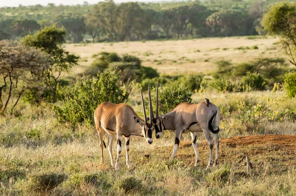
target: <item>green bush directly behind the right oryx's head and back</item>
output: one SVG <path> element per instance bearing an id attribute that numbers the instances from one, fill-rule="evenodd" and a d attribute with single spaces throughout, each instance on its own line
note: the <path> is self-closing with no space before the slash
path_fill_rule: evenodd
<path id="1" fill-rule="evenodd" d="M 152 98 L 153 104 L 155 104 L 156 93 L 155 89 L 154 96 Z M 159 91 L 159 112 L 161 114 L 167 113 L 174 109 L 179 103 L 192 101 L 192 93 L 189 91 L 188 87 L 183 85 L 167 86 Z M 156 108 L 155 105 L 153 108 Z"/>

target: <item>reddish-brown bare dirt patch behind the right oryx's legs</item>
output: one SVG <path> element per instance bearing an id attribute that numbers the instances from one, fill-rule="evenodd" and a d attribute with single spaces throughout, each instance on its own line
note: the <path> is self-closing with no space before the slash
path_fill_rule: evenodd
<path id="1" fill-rule="evenodd" d="M 194 160 L 191 141 L 181 141 L 176 157 Z M 192 148 L 192 150 L 189 150 Z M 209 159 L 207 141 L 197 143 L 202 162 Z M 242 156 L 249 155 L 253 162 L 267 162 L 274 165 L 296 165 L 296 135 L 249 135 L 220 138 L 219 160 L 221 163 L 235 163 Z M 213 152 L 215 160 L 215 149 Z"/>

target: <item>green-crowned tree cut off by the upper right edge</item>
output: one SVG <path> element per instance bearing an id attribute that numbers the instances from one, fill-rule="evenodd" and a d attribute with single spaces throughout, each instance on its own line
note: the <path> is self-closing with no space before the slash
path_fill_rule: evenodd
<path id="1" fill-rule="evenodd" d="M 296 66 L 296 5 L 280 3 L 272 6 L 264 15 L 262 26 L 271 34 L 277 34 L 290 57 L 290 63 Z"/>

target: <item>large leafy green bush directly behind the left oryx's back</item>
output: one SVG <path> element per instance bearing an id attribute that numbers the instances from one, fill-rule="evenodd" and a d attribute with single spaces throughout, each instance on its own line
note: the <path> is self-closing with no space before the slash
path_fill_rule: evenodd
<path id="1" fill-rule="evenodd" d="M 113 103 L 126 102 L 129 92 L 118 84 L 119 75 L 108 70 L 98 73 L 97 77 L 83 76 L 77 80 L 73 88 L 59 89 L 62 106 L 53 106 L 60 123 L 93 122 L 93 114 L 97 106 L 106 101 Z"/>

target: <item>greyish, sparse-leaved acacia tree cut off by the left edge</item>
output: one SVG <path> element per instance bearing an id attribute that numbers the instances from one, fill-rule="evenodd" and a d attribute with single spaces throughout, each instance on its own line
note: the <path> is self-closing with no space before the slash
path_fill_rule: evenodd
<path id="1" fill-rule="evenodd" d="M 22 94 L 38 88 L 50 59 L 40 50 L 7 40 L 0 41 L 0 115 L 3 115 L 12 97 L 17 105 Z"/>

